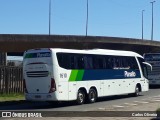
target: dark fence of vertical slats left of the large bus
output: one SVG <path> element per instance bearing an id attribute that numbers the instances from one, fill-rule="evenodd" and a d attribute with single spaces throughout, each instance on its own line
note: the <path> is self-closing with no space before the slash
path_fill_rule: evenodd
<path id="1" fill-rule="evenodd" d="M 22 67 L 0 66 L 0 94 L 23 93 Z"/>

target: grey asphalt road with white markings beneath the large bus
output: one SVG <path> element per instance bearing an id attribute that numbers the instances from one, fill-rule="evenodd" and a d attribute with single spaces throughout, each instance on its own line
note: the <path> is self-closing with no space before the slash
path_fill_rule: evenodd
<path id="1" fill-rule="evenodd" d="M 83 117 L 46 117 L 46 118 L 34 118 L 34 119 L 45 119 L 45 120 L 149 120 L 156 118 L 156 116 L 135 116 L 137 112 L 150 112 L 156 114 L 156 110 L 160 108 L 160 87 L 153 87 L 148 92 L 142 93 L 139 97 L 131 97 L 127 95 L 123 96 L 112 96 L 112 97 L 105 97 L 99 99 L 94 104 L 84 104 L 84 105 L 76 105 L 74 102 L 65 102 L 60 104 L 50 104 L 47 102 L 26 102 L 26 101 L 14 101 L 14 104 L 5 102 L 0 102 L 0 110 L 1 111 L 11 111 L 11 110 L 27 110 L 27 111 L 96 111 L 97 113 L 108 112 L 108 111 L 119 111 L 120 113 L 125 112 L 128 115 L 128 111 L 131 111 L 131 116 L 121 116 L 117 114 L 117 117 L 104 117 L 98 116 L 97 117 L 90 117 L 90 116 L 83 116 Z M 100 111 L 100 112 L 99 112 Z M 74 116 L 74 115 L 73 115 Z M 15 118 L 10 118 L 15 119 Z M 25 118 L 28 119 L 28 118 Z M 32 119 L 32 118 L 30 118 Z"/>

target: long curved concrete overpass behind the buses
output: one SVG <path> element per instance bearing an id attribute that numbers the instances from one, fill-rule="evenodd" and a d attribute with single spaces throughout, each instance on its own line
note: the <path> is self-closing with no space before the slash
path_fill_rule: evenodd
<path id="1" fill-rule="evenodd" d="M 0 52 L 18 55 L 32 48 L 73 48 L 73 49 L 115 49 L 130 50 L 140 54 L 160 52 L 160 42 L 101 36 L 72 36 L 72 35 L 23 35 L 1 34 Z"/>

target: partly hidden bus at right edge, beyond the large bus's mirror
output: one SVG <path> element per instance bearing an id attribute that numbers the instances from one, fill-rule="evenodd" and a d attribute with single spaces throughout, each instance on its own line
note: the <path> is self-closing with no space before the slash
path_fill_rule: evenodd
<path id="1" fill-rule="evenodd" d="M 152 65 L 152 71 L 148 71 L 150 85 L 160 85 L 160 53 L 145 53 L 144 59 Z"/>

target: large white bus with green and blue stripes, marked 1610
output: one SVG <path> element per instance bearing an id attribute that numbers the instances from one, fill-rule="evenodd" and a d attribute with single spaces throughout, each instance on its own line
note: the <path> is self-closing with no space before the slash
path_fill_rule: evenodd
<path id="1" fill-rule="evenodd" d="M 83 104 L 103 96 L 138 96 L 149 89 L 147 66 L 130 51 L 31 49 L 23 61 L 25 98 Z"/>

